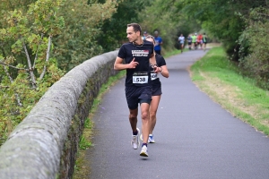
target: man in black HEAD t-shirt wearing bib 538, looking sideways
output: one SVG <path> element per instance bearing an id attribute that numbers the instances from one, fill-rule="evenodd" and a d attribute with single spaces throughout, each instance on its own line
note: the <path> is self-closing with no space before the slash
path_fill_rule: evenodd
<path id="1" fill-rule="evenodd" d="M 126 70 L 126 101 L 129 108 L 129 122 L 133 131 L 131 144 L 139 148 L 139 129 L 137 125 L 138 103 L 142 117 L 143 136 L 150 134 L 149 109 L 152 101 L 152 81 L 150 64 L 154 72 L 160 72 L 153 56 L 154 47 L 141 37 L 141 27 L 137 23 L 127 25 L 126 33 L 129 43 L 123 44 L 114 64 L 115 70 Z M 151 59 L 150 59 L 151 58 Z M 123 64 L 125 62 L 125 64 Z M 143 140 L 140 156 L 148 157 L 147 138 Z"/>

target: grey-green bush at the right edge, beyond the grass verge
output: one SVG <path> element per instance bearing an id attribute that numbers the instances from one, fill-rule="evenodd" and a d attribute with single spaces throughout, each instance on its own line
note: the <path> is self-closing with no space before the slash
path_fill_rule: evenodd
<path id="1" fill-rule="evenodd" d="M 257 84 L 269 90 L 269 10 L 258 7 L 251 11 L 246 30 L 239 38 L 240 66 L 243 72 L 256 79 Z"/>

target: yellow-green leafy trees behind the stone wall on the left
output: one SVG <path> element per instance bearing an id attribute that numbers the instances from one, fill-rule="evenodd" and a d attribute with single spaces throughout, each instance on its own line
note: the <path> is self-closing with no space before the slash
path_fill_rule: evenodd
<path id="1" fill-rule="evenodd" d="M 0 139 L 70 70 L 103 52 L 96 37 L 116 0 L 3 0 L 0 4 Z M 64 21 L 65 19 L 65 21 Z"/>

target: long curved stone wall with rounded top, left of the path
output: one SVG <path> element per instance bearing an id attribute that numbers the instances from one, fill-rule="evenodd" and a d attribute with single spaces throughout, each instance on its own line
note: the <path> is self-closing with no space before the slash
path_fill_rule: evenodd
<path id="1" fill-rule="evenodd" d="M 83 124 L 117 51 L 76 66 L 57 81 L 0 148 L 0 178 L 71 178 Z"/>

